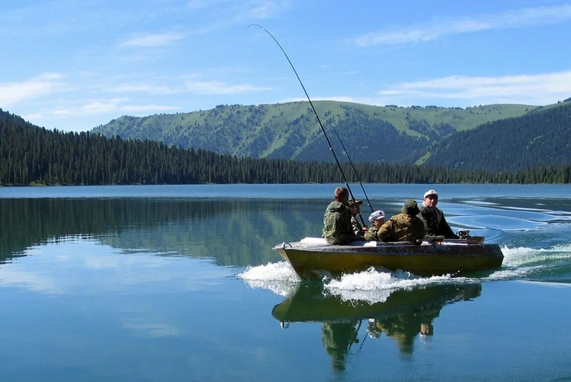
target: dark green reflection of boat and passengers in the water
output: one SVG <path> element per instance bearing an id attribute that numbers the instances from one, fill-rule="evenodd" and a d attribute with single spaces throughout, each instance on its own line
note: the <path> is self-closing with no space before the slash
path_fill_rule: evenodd
<path id="1" fill-rule="evenodd" d="M 370 302 L 347 299 L 325 288 L 317 282 L 299 284 L 272 309 L 272 316 L 284 328 L 293 322 L 321 322 L 325 351 L 332 357 L 332 367 L 341 370 L 351 347 L 360 342 L 361 325 L 367 325 L 365 339 L 378 339 L 385 333 L 401 353 L 410 355 L 416 336 L 433 335 L 433 320 L 445 305 L 475 299 L 481 293 L 481 284 L 433 285 L 384 291 L 388 297 L 383 301 Z"/>

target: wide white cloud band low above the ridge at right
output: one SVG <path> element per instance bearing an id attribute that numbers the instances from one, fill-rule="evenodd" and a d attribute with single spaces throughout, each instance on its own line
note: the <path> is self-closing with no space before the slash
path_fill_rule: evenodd
<path id="1" fill-rule="evenodd" d="M 547 104 L 567 98 L 571 95 L 569 89 L 571 70 L 503 77 L 452 75 L 427 81 L 402 82 L 379 91 L 379 95 L 408 100 L 432 99 L 431 104 L 439 104 L 439 99 L 456 99 L 467 104 L 524 103 L 524 100 Z"/>

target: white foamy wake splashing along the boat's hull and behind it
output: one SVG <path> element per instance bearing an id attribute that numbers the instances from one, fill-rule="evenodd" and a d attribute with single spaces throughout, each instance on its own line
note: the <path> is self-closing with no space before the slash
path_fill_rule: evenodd
<path id="1" fill-rule="evenodd" d="M 369 303 L 385 301 L 396 290 L 409 290 L 425 286 L 446 284 L 472 284 L 496 280 L 534 280 L 571 282 L 557 275 L 570 274 L 571 243 L 550 248 L 501 248 L 504 263 L 499 270 L 475 274 L 471 277 L 454 275 L 420 277 L 406 271 L 388 272 L 369 268 L 367 271 L 332 279 L 324 276 L 324 292 L 342 300 L 360 300 Z M 279 296 L 288 296 L 301 280 L 287 262 L 268 263 L 247 267 L 238 275 L 251 288 L 270 289 Z"/>

